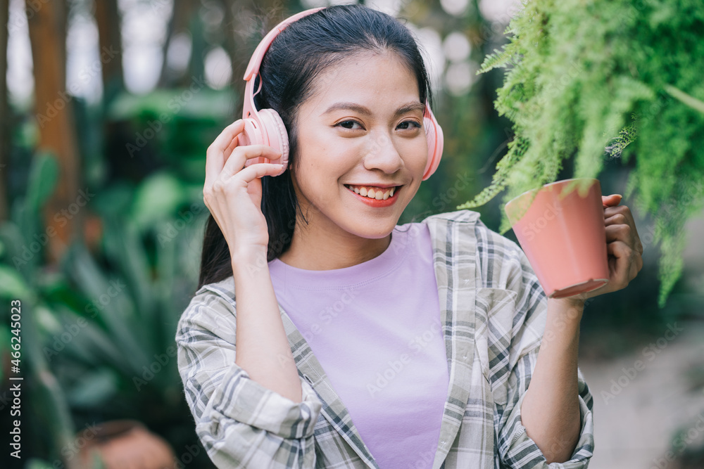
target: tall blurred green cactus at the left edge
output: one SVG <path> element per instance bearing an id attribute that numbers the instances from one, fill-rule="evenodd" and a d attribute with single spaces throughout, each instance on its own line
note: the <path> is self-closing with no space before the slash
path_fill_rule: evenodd
<path id="1" fill-rule="evenodd" d="M 32 406 L 25 407 L 31 409 L 30 412 L 21 414 L 25 425 L 30 421 L 37 428 L 46 429 L 47 438 L 42 441 L 48 444 L 47 453 L 52 458 L 63 461 L 63 467 L 73 469 L 77 468 L 76 461 L 65 458 L 61 452 L 62 448 L 73 442 L 73 420 L 65 392 L 49 368 L 49 361 L 42 354 L 40 316 L 47 314 L 51 307 L 44 292 L 51 290 L 55 277 L 40 268 L 38 256 L 32 255 L 32 248 L 29 248 L 33 247 L 32 243 L 38 245 L 38 241 L 28 235 L 38 233 L 37 214 L 54 190 L 57 176 L 58 165 L 54 156 L 48 153 L 37 155 L 30 172 L 27 193 L 24 198 L 15 200 L 12 206 L 13 221 L 7 221 L 0 226 L 0 252 L 4 260 L 0 263 L 0 297 L 8 300 L 8 304 L 11 300 L 20 300 L 20 321 L 14 322 L 20 323 L 18 329 L 21 345 L 19 350 L 12 350 L 8 348 L 10 340 L 4 340 L 1 356 L 7 357 L 7 361 L 9 357 L 18 360 L 19 374 L 27 378 L 24 381 L 23 396 L 32 402 Z M 30 255 L 23 254 L 23 248 L 27 248 Z M 15 266 L 6 264 L 11 257 L 22 259 L 23 262 L 18 263 L 15 269 Z M 9 308 L 4 308 L 2 312 L 2 315 L 6 316 L 0 323 L 3 337 L 11 335 L 10 312 Z M 4 380 L 5 377 L 0 378 Z M 25 441 L 26 437 L 27 435 Z M 31 444 L 36 442 L 30 442 Z"/>

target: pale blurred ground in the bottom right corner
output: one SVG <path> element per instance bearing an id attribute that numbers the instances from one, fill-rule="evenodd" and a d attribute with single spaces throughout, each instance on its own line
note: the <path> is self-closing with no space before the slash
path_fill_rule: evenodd
<path id="1" fill-rule="evenodd" d="M 580 349 L 594 397 L 590 469 L 704 468 L 704 324 L 670 326 L 617 359 L 594 358 L 589 340 Z"/>

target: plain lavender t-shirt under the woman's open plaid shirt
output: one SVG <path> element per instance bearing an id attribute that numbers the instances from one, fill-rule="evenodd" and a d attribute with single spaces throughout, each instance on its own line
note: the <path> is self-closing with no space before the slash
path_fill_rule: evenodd
<path id="1" fill-rule="evenodd" d="M 344 269 L 269 269 L 379 468 L 431 468 L 449 376 L 427 225 L 396 226 L 381 255 Z"/>

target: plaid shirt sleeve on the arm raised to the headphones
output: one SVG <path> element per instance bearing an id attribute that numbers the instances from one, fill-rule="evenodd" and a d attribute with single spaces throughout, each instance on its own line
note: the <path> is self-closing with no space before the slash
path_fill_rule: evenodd
<path id="1" fill-rule="evenodd" d="M 235 364 L 234 299 L 196 292 L 179 320 L 177 362 L 203 447 L 218 468 L 313 468 L 322 402 L 301 378 L 295 403 Z"/>

